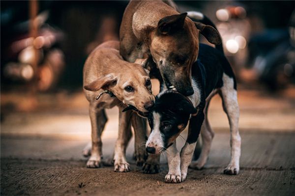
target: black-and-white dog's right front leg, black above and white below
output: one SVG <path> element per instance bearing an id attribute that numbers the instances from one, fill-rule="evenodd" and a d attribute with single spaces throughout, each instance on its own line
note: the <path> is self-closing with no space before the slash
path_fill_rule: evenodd
<path id="1" fill-rule="evenodd" d="M 201 131 L 201 126 L 204 121 L 203 110 L 199 111 L 196 116 L 192 116 L 189 121 L 187 140 L 185 145 L 181 149 L 181 181 L 184 181 L 187 176 L 188 166 L 192 162 L 195 147 L 198 141 L 198 137 Z"/>

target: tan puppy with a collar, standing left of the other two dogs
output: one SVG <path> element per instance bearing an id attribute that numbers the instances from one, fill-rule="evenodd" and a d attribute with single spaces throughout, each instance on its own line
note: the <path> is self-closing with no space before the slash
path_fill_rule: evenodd
<path id="1" fill-rule="evenodd" d="M 146 127 L 142 127 L 144 124 L 142 118 L 131 111 L 122 112 L 122 110 L 131 105 L 136 107 L 139 113 L 147 112 L 153 106 L 154 96 L 151 93 L 148 73 L 143 67 L 146 60 L 137 61 L 142 65 L 126 62 L 119 55 L 118 48 L 119 42 L 117 41 L 101 44 L 91 52 L 84 66 L 84 93 L 89 101 L 92 129 L 91 156 L 87 162 L 87 167 L 97 168 L 101 166 L 101 133 L 107 122 L 105 109 L 118 106 L 119 131 L 114 155 L 115 171 L 128 172 L 129 164 L 126 161 L 125 150 L 132 135 L 130 120 L 135 131 L 138 165 L 142 165 L 147 158 L 145 146 L 139 146 L 146 142 Z M 107 93 L 103 93 L 104 91 Z M 111 97 L 110 95 L 114 96 Z"/>

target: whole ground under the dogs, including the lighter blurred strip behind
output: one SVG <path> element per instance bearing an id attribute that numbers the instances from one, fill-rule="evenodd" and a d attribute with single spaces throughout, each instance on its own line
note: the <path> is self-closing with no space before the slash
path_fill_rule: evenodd
<path id="1" fill-rule="evenodd" d="M 113 167 L 87 169 L 87 159 L 81 151 L 89 142 L 90 123 L 87 104 L 81 104 L 79 100 L 83 96 L 79 95 L 76 105 L 74 101 L 72 105 L 64 102 L 68 108 L 63 111 L 46 109 L 46 112 L 4 116 L 0 193 L 3 196 L 294 196 L 294 99 L 269 98 L 246 91 L 239 95 L 242 155 L 241 170 L 236 176 L 222 173 L 230 160 L 230 135 L 218 99 L 212 101 L 209 111 L 216 131 L 209 160 L 204 170 L 189 170 L 183 183 L 164 183 L 168 172 L 165 156 L 161 157 L 160 173 L 143 174 L 131 158 L 133 141 L 127 148 L 131 172 L 113 172 Z M 69 109 L 73 106 L 75 111 Z M 103 135 L 105 160 L 112 157 L 118 129 L 117 110 L 109 111 L 108 115 L 109 123 Z M 177 144 L 181 147 L 183 140 L 179 139 Z"/>

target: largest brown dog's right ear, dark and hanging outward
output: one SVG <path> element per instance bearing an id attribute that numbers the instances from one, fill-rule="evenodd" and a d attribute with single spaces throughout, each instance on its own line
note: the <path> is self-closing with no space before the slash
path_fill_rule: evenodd
<path id="1" fill-rule="evenodd" d="M 206 39 L 214 45 L 219 45 L 222 43 L 221 36 L 219 32 L 210 25 L 204 25 L 203 23 L 194 22 L 200 33 L 206 37 Z"/>

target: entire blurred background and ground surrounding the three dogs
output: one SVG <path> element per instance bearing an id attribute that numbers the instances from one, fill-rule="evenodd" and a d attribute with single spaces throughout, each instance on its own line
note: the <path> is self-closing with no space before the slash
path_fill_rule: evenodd
<path id="1" fill-rule="evenodd" d="M 134 139 L 126 152 L 131 172 L 86 168 L 82 150 L 91 126 L 83 65 L 100 43 L 118 40 L 127 4 L 0 1 L 0 195 L 295 195 L 295 1 L 176 1 L 180 12 L 200 11 L 216 24 L 236 73 L 238 176 L 223 175 L 230 134 L 219 96 L 209 107 L 216 134 L 206 170 L 190 170 L 175 189 L 163 183 L 167 164 L 156 175 L 136 167 Z M 152 86 L 157 94 L 157 81 Z M 103 160 L 112 159 L 118 108 L 107 116 Z M 178 148 L 186 132 L 182 135 Z"/>

